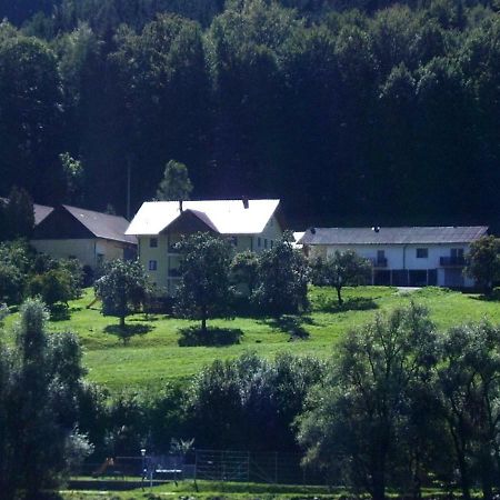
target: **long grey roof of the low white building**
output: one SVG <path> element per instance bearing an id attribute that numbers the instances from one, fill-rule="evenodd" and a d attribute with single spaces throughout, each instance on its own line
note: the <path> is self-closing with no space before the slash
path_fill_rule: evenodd
<path id="1" fill-rule="evenodd" d="M 470 243 L 487 234 L 487 226 L 416 228 L 311 228 L 303 244 L 430 244 Z"/>

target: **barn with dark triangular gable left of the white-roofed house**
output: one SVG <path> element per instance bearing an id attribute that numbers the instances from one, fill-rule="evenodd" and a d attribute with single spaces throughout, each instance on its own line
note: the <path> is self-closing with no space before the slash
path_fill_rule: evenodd
<path id="1" fill-rule="evenodd" d="M 77 258 L 92 269 L 112 259 L 136 256 L 137 239 L 126 236 L 127 219 L 68 204 L 34 206 L 31 244 L 54 258 Z"/>

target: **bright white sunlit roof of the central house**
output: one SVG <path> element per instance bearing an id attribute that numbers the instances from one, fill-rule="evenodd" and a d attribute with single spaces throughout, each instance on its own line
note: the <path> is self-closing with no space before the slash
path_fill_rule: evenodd
<path id="1" fill-rule="evenodd" d="M 280 200 L 203 200 L 183 201 L 190 211 L 220 234 L 259 234 L 266 228 Z M 147 201 L 136 213 L 126 234 L 152 236 L 166 230 L 180 217 L 178 201 Z"/>

